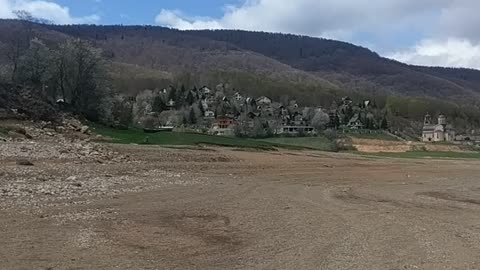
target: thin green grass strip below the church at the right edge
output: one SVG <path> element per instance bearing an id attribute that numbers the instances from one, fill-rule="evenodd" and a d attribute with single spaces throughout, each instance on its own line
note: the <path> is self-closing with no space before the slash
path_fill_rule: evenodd
<path id="1" fill-rule="evenodd" d="M 411 151 L 405 153 L 358 153 L 364 156 L 389 157 L 389 158 L 440 158 L 440 159 L 480 159 L 480 152 L 428 152 Z"/>

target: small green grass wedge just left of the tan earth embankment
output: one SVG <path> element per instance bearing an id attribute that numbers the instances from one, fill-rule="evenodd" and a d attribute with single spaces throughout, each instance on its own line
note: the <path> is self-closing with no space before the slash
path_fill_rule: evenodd
<path id="1" fill-rule="evenodd" d="M 277 137 L 258 139 L 272 144 L 290 145 L 320 151 L 336 151 L 335 143 L 325 137 Z"/>

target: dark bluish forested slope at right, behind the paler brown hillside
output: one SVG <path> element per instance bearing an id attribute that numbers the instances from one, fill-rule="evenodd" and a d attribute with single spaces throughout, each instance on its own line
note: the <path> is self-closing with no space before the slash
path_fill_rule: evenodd
<path id="1" fill-rule="evenodd" d="M 318 72 L 347 88 L 381 88 L 409 96 L 462 99 L 480 92 L 480 71 L 408 66 L 352 44 L 306 36 L 246 31 L 189 31 Z M 459 75 L 462 74 L 462 75 Z M 457 84 L 460 78 L 463 84 Z"/>

